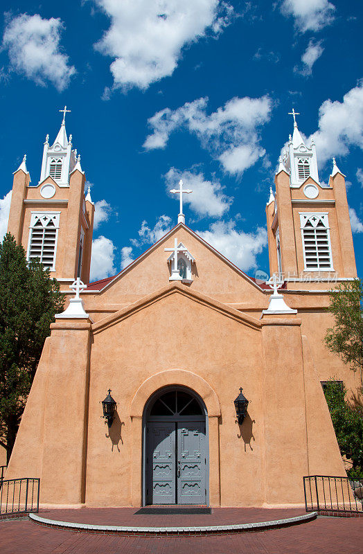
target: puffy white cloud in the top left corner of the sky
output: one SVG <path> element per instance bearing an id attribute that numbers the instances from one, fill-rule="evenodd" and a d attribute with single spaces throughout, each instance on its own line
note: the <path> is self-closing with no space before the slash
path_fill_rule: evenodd
<path id="1" fill-rule="evenodd" d="M 68 87 L 76 69 L 60 48 L 60 19 L 20 14 L 8 21 L 3 48 L 8 50 L 10 69 L 45 86 L 49 80 L 58 91 Z"/>

